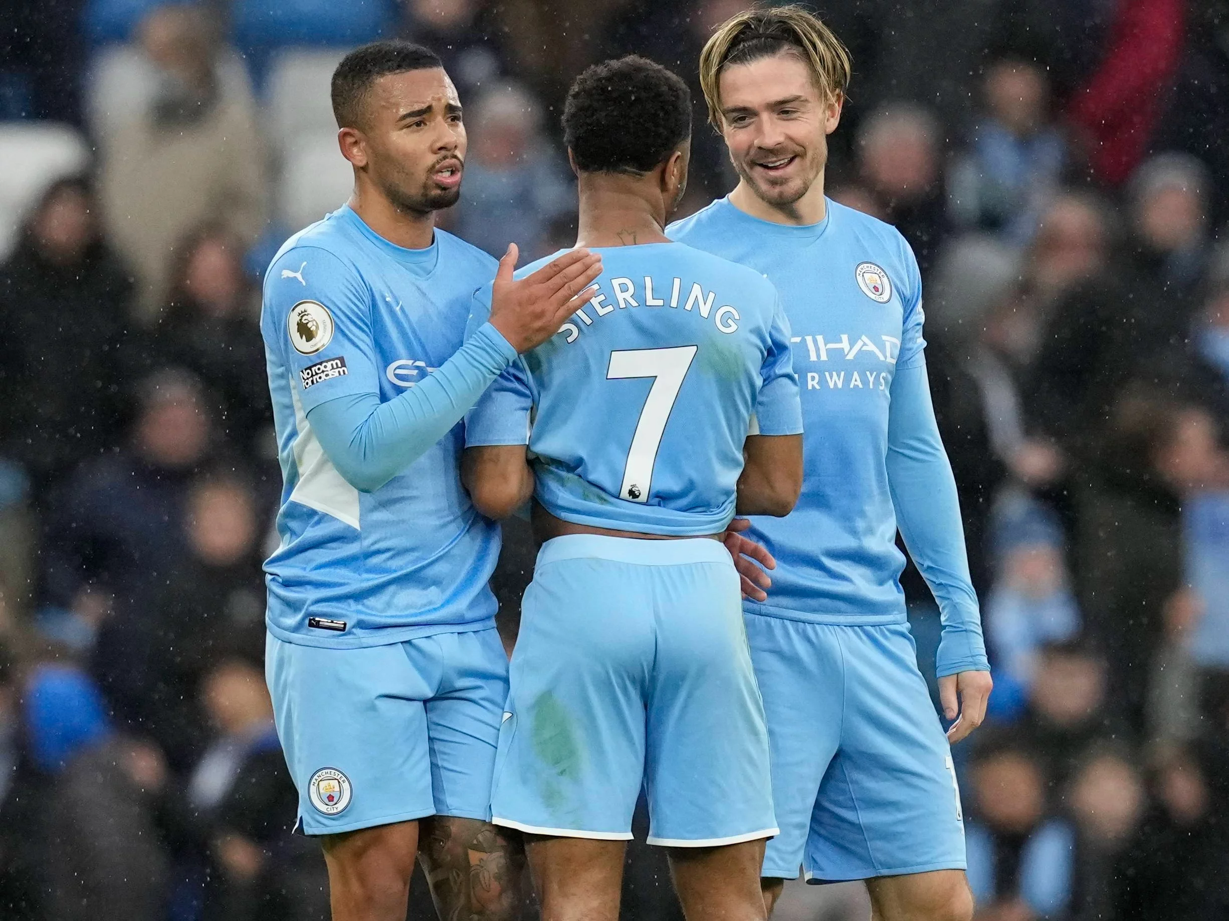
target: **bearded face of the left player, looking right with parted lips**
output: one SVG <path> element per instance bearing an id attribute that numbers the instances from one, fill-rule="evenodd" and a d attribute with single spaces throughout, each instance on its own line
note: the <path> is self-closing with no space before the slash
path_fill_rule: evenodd
<path id="1" fill-rule="evenodd" d="M 343 128 L 342 151 L 398 209 L 426 214 L 461 195 L 466 131 L 461 102 L 440 68 L 375 80 L 361 126 Z"/>

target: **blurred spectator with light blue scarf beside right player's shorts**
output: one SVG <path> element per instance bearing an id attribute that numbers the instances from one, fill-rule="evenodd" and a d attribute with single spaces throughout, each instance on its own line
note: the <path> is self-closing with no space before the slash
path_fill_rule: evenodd
<path id="1" fill-rule="evenodd" d="M 971 772 L 975 814 L 965 822 L 965 840 L 977 921 L 1061 917 L 1072 895 L 1074 830 L 1047 804 L 1039 756 L 989 744 Z"/>

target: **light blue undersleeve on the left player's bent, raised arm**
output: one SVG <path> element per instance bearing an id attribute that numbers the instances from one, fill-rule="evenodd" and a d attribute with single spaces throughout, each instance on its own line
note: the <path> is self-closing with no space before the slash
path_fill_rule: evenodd
<path id="1" fill-rule="evenodd" d="M 371 492 L 422 457 L 465 416 L 515 350 L 484 325 L 425 379 L 395 399 L 356 394 L 307 413 L 321 447 L 355 489 Z"/>

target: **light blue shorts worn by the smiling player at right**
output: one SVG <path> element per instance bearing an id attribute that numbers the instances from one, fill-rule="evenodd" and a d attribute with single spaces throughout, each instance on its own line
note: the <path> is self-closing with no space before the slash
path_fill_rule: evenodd
<path id="1" fill-rule="evenodd" d="M 965 868 L 951 750 L 907 624 L 746 615 L 780 835 L 763 876 L 836 882 Z"/>

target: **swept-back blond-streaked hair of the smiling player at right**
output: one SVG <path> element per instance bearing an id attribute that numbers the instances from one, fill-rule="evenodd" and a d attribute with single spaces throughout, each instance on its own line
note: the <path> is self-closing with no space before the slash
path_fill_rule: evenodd
<path id="1" fill-rule="evenodd" d="M 778 54 L 798 55 L 827 96 L 844 95 L 849 86 L 849 52 L 814 12 L 796 4 L 746 10 L 723 22 L 699 55 L 699 84 L 717 128 L 721 126 L 721 71 Z"/>

